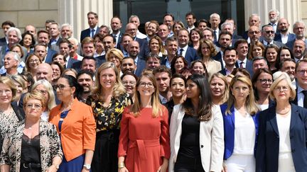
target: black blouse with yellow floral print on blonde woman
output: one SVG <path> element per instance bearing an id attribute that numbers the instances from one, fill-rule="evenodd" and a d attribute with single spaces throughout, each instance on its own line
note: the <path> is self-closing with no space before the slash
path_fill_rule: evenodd
<path id="1" fill-rule="evenodd" d="M 95 100 L 92 96 L 87 98 L 86 103 L 92 107 L 97 126 L 96 132 L 99 132 L 119 129 L 124 108 L 131 105 L 132 99 L 129 93 L 122 93 L 117 99 L 112 97 L 107 108 L 103 106 L 101 101 Z"/>

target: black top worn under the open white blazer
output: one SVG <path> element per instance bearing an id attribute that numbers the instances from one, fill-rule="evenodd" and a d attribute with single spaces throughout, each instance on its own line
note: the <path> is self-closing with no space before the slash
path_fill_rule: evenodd
<path id="1" fill-rule="evenodd" d="M 185 114 L 182 121 L 181 143 L 178 155 L 200 156 L 200 121 L 197 116 Z"/>

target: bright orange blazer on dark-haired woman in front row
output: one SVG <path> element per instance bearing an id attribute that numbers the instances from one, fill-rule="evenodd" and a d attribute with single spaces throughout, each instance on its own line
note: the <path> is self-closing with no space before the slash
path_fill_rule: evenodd
<path id="1" fill-rule="evenodd" d="M 53 123 L 61 137 L 63 153 L 67 161 L 85 154 L 85 149 L 95 149 L 96 122 L 92 108 L 85 103 L 74 99 L 68 115 L 62 123 L 62 130 L 59 131 L 60 107 L 55 106 L 50 110 L 49 122 Z"/>

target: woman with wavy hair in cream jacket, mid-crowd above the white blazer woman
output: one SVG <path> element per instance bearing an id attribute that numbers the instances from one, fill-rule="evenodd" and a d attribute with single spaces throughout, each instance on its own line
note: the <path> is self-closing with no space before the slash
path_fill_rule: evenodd
<path id="1" fill-rule="evenodd" d="M 217 52 L 215 50 L 215 45 L 211 40 L 200 41 L 198 55 L 201 58 L 202 62 L 205 64 L 209 76 L 222 70 L 220 62 L 217 62 L 215 59 L 212 59 L 212 57 L 215 57 L 215 55 L 217 55 Z"/>

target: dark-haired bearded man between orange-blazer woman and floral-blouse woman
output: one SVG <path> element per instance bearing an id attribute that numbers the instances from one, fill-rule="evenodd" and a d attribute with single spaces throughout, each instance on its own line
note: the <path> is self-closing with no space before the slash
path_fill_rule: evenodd
<path id="1" fill-rule="evenodd" d="M 92 91 L 92 86 L 94 86 L 93 81 L 94 74 L 91 71 L 82 70 L 77 74 L 77 83 L 83 87 L 83 92 L 80 95 L 79 101 L 85 103 L 87 97 L 90 96 Z"/>

